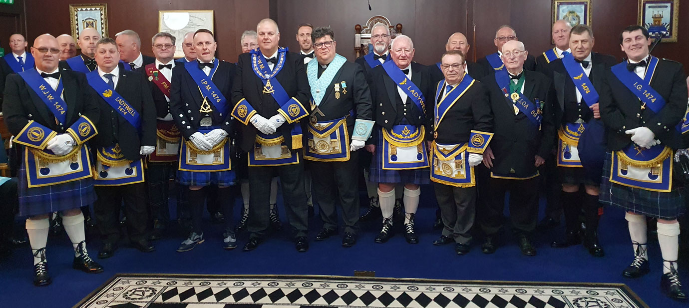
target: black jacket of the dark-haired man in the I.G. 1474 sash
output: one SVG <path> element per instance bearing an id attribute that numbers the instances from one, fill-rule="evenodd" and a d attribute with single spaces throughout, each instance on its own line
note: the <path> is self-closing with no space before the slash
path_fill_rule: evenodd
<path id="1" fill-rule="evenodd" d="M 606 71 L 601 88 L 601 119 L 608 128 L 608 149 L 617 151 L 631 143 L 631 137 L 624 132 L 637 127 L 648 127 L 661 144 L 679 149 L 686 147 L 675 125 L 681 121 L 687 109 L 687 85 L 684 69 L 679 62 L 661 59 L 658 62 L 650 86 L 662 96 L 666 103 L 658 113 L 646 107 L 635 94 L 617 79 L 612 70 Z M 637 117 L 637 114 L 639 116 Z"/>

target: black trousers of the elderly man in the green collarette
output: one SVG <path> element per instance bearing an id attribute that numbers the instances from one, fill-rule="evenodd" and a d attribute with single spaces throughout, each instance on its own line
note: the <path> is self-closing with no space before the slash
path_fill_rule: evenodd
<path id="1" fill-rule="evenodd" d="M 493 236 L 504 228 L 505 193 L 510 192 L 509 209 L 516 236 L 531 236 L 538 220 L 539 176 L 528 180 L 489 179 L 486 206 L 479 209 L 483 232 Z"/>

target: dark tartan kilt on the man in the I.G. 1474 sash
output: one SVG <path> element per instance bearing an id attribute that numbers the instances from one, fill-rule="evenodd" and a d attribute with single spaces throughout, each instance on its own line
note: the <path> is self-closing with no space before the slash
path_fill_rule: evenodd
<path id="1" fill-rule="evenodd" d="M 628 187 L 610 182 L 612 153 L 607 152 L 603 163 L 603 177 L 599 201 L 615 205 L 628 212 L 660 219 L 673 220 L 683 214 L 686 188 L 679 181 L 672 181 L 670 192 L 652 192 L 646 189 Z"/>

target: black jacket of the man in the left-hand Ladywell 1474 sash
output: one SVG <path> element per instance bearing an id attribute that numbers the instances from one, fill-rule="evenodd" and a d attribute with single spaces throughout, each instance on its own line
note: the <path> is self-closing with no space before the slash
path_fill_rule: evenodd
<path id="1" fill-rule="evenodd" d="M 155 106 L 143 74 L 120 69 L 115 86 L 115 92 L 119 93 L 141 116 L 141 132 L 136 132 L 136 129 L 123 116 L 117 114 L 117 111 L 105 102 L 101 94 L 91 87 L 89 89 L 96 97 L 101 112 L 101 121 L 96 125 L 99 134 L 92 139 L 94 147 L 108 147 L 113 143 L 119 143 L 125 158 L 136 161 L 141 158 L 139 155 L 141 145 L 156 145 Z"/>

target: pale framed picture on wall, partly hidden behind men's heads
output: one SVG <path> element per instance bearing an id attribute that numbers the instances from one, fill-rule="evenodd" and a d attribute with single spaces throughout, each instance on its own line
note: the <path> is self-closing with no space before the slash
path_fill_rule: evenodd
<path id="1" fill-rule="evenodd" d="M 184 57 L 182 41 L 187 32 L 213 29 L 213 10 L 158 11 L 158 32 L 168 32 L 175 37 L 175 58 Z"/>

